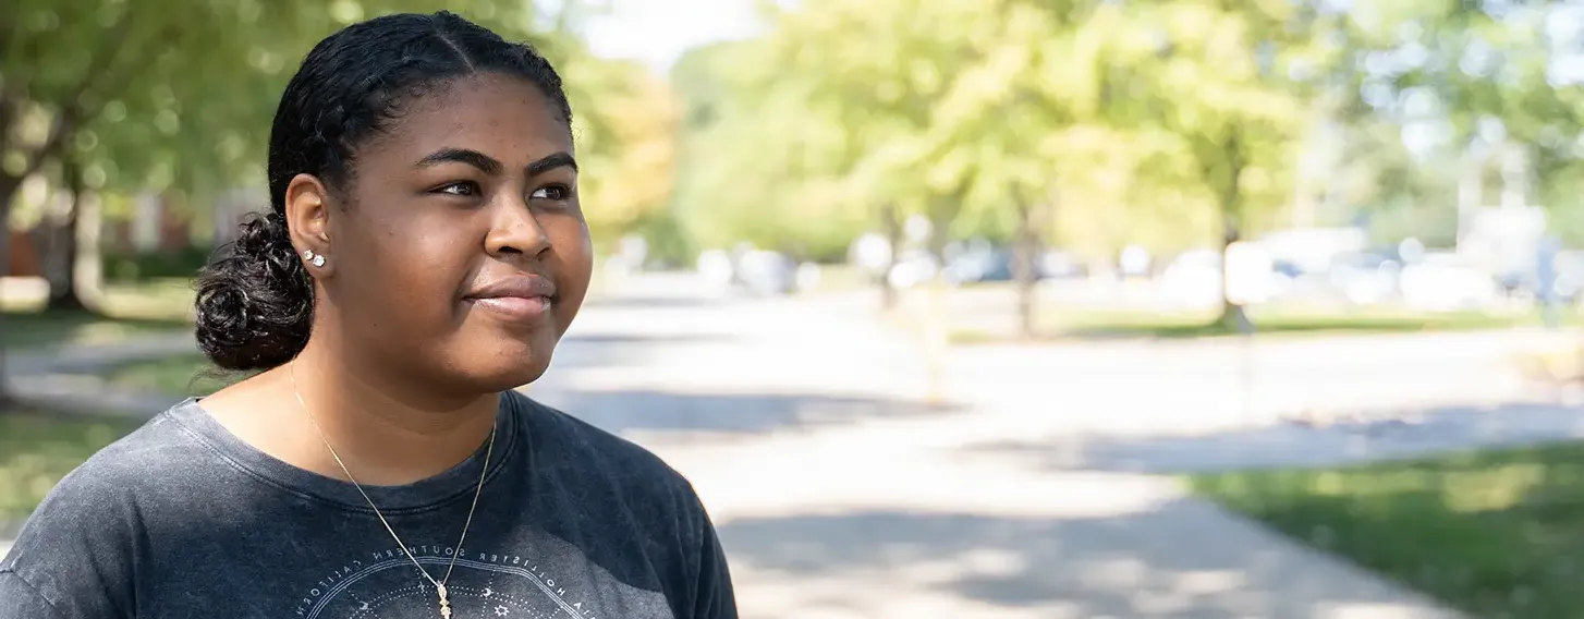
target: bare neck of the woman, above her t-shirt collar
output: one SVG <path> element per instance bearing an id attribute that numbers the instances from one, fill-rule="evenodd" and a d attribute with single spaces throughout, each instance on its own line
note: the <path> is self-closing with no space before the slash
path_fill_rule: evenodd
<path id="1" fill-rule="evenodd" d="M 382 385 L 342 359 L 310 344 L 276 372 L 284 372 L 285 386 L 301 397 L 306 410 L 299 413 L 310 416 L 304 420 L 310 421 L 307 431 L 314 432 L 317 423 L 358 483 L 391 486 L 439 475 L 489 439 L 499 394 L 420 397 Z M 298 404 L 296 397 L 290 402 Z M 341 473 L 334 458 L 325 456 Z"/>

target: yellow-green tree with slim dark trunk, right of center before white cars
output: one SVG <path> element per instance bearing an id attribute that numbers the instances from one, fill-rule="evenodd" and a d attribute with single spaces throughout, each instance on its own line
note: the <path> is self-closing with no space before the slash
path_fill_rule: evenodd
<path id="1" fill-rule="evenodd" d="M 1107 32 L 1102 109 L 1117 127 L 1175 142 L 1185 168 L 1161 171 L 1191 179 L 1215 206 L 1223 253 L 1289 196 L 1305 78 L 1334 54 L 1315 36 L 1327 19 L 1340 16 L 1288 0 L 1156 0 L 1109 3 L 1090 25 Z M 1224 298 L 1218 323 L 1243 320 Z"/>

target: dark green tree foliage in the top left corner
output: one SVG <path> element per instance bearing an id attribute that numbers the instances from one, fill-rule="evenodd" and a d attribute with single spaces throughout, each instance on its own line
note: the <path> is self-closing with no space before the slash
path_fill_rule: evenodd
<path id="1" fill-rule="evenodd" d="M 257 3 L 208 2 L 133 6 L 98 0 L 21 0 L 0 9 L 0 223 L 5 223 L 0 225 L 0 274 L 10 272 L 8 222 L 25 179 L 62 163 L 71 149 L 84 158 L 109 152 L 117 144 L 111 136 L 133 127 L 152 127 L 165 138 L 177 135 L 177 92 L 190 92 L 200 82 L 212 85 L 206 78 L 223 76 L 227 70 L 246 73 L 253 44 L 293 43 L 290 36 L 277 36 L 291 30 L 272 25 L 280 25 L 276 17 L 291 14 L 296 5 L 312 3 L 288 2 L 268 14 Z M 192 52 L 200 49 L 203 52 Z M 234 109 L 215 108 L 225 114 L 252 109 L 247 101 L 238 103 Z M 128 169 L 146 169 L 149 163 L 131 154 L 163 152 L 162 141 L 146 142 L 143 150 L 130 149 L 130 142 L 120 141 L 128 146 L 124 149 L 128 155 L 119 160 Z M 190 157 L 187 161 L 200 168 L 215 158 Z M 76 157 L 68 163 L 74 179 L 81 171 L 84 185 L 97 185 L 108 176 L 103 165 Z M 10 401 L 3 369 L 0 356 L 0 405 Z"/>

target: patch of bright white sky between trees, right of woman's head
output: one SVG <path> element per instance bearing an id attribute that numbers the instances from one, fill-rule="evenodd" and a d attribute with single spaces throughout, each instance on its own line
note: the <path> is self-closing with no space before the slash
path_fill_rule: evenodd
<path id="1" fill-rule="evenodd" d="M 754 0 L 611 0 L 611 6 L 608 16 L 589 19 L 589 46 L 600 55 L 640 60 L 661 74 L 689 47 L 759 30 Z"/>

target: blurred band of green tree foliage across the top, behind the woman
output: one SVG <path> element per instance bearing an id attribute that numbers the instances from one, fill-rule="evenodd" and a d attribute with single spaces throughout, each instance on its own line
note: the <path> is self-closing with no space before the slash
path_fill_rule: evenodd
<path id="1" fill-rule="evenodd" d="M 1584 242 L 1576 0 L 767 2 L 762 35 L 697 49 L 668 81 L 591 54 L 567 17 L 584 5 L 10 2 L 0 215 L 35 174 L 200 206 L 257 184 L 314 41 L 448 8 L 567 73 L 602 241 L 838 260 L 909 215 L 933 223 L 933 252 L 980 236 L 1110 258 L 1353 222 L 1449 241 L 1457 180 L 1494 195 L 1517 152 L 1530 201 Z"/>

